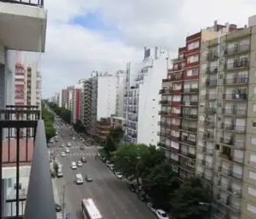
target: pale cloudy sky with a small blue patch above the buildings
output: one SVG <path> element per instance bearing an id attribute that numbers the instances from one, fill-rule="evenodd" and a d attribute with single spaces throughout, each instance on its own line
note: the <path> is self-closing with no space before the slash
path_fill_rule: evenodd
<path id="1" fill-rule="evenodd" d="M 43 96 L 87 78 L 116 72 L 143 58 L 143 47 L 176 52 L 185 37 L 218 23 L 244 26 L 252 0 L 45 0 L 46 53 L 41 56 Z"/>

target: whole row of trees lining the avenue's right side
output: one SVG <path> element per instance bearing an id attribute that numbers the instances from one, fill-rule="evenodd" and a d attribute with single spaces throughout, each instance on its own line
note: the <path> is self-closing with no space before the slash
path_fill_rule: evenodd
<path id="1" fill-rule="evenodd" d="M 211 196 L 200 178 L 181 183 L 162 150 L 151 145 L 121 144 L 121 138 L 120 129 L 111 129 L 104 153 L 124 177 L 143 188 L 154 207 L 170 212 L 176 219 L 209 218 Z"/>

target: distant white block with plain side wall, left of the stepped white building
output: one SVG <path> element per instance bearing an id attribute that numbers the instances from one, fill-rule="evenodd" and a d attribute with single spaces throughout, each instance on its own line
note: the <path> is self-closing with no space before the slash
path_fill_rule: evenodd
<path id="1" fill-rule="evenodd" d="M 95 135 L 97 121 L 116 114 L 116 75 L 92 72 L 91 75 L 91 134 Z"/>

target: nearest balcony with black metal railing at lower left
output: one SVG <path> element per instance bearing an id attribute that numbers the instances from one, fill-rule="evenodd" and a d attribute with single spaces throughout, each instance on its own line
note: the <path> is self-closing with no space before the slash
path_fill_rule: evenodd
<path id="1" fill-rule="evenodd" d="M 18 110 L 21 107 L 24 110 Z M 37 109 L 36 106 L 19 106 L 19 108 L 7 106 L 7 110 L 1 110 L 1 176 L 3 177 L 4 166 L 15 166 L 15 183 L 20 185 L 23 165 L 30 168 L 28 190 L 23 197 L 20 196 L 19 186 L 16 186 L 15 199 L 6 199 L 4 192 L 7 192 L 7 188 L 4 187 L 3 182 L 7 179 L 1 178 L 1 218 L 56 219 L 45 125 L 43 120 L 39 120 L 39 110 L 34 110 L 32 107 Z M 27 141 L 30 143 L 24 144 Z M 7 211 L 6 206 L 10 204 L 12 207 Z"/>

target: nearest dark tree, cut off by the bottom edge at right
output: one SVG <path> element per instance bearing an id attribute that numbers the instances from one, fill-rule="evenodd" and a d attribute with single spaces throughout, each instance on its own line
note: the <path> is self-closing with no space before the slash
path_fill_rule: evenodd
<path id="1" fill-rule="evenodd" d="M 189 179 L 173 193 L 171 215 L 177 219 L 209 218 L 211 211 L 208 205 L 200 204 L 200 202 L 210 203 L 210 197 L 199 178 Z"/>

